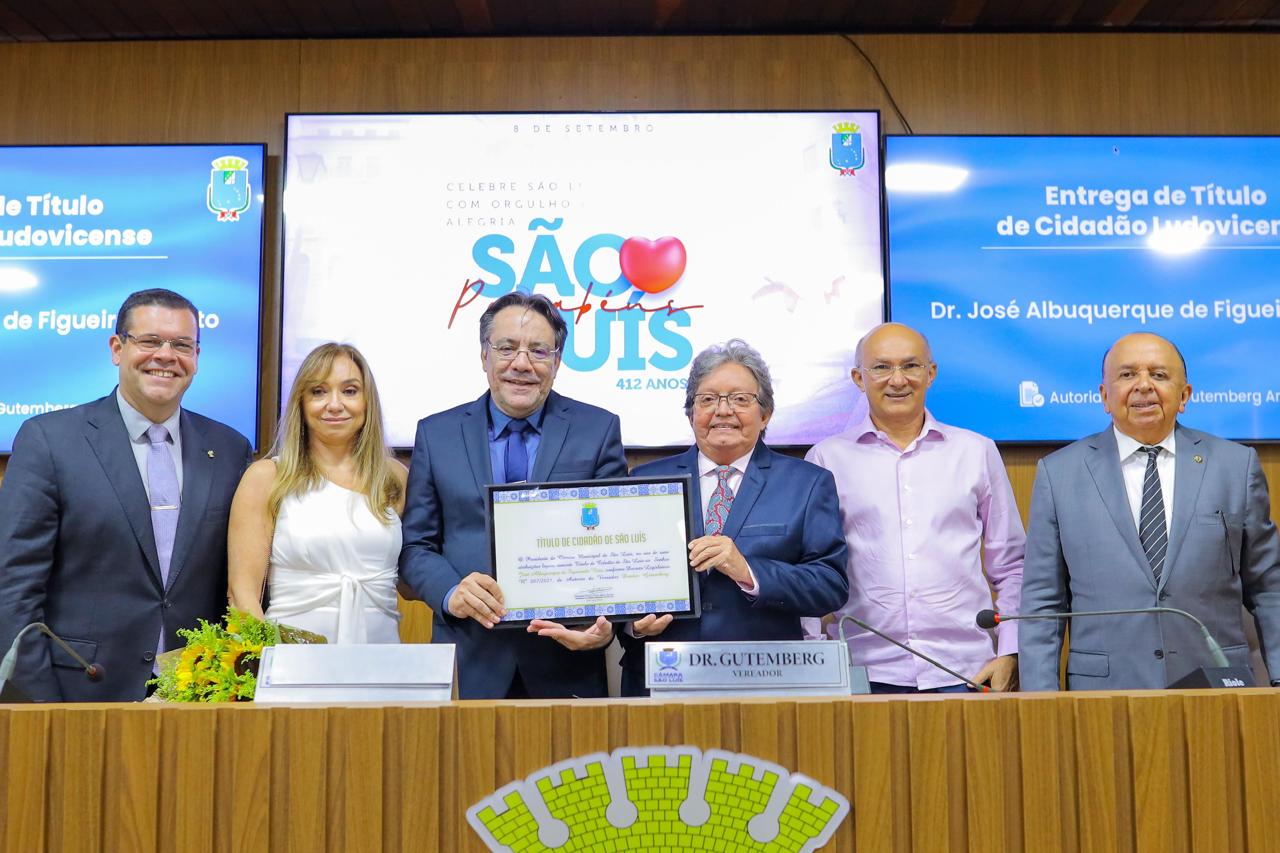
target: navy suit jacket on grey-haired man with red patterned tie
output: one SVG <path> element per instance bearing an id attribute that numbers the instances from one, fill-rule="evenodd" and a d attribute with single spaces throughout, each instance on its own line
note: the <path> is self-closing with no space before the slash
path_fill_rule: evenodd
<path id="1" fill-rule="evenodd" d="M 698 447 L 640 465 L 634 476 L 687 474 L 692 478 L 694 530 L 703 535 Z M 701 619 L 677 619 L 650 642 L 804 639 L 801 616 L 826 616 L 849 599 L 847 546 L 831 471 L 755 446 L 723 535 L 733 539 L 760 584 L 745 594 L 719 571 L 699 574 Z M 618 637 L 622 693 L 645 695 L 644 642 Z"/>

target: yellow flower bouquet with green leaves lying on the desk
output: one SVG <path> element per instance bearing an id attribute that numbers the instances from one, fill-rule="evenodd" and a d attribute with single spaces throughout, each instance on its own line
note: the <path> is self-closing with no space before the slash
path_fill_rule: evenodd
<path id="1" fill-rule="evenodd" d="M 160 654 L 160 675 L 150 684 L 160 702 L 250 702 L 257 689 L 262 649 L 280 643 L 324 643 L 320 634 L 278 625 L 233 607 L 224 625 L 200 620 L 178 629 L 183 648 Z"/>

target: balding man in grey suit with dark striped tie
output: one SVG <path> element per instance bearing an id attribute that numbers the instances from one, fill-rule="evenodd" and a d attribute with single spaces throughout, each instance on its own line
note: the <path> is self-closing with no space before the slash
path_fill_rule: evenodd
<path id="1" fill-rule="evenodd" d="M 1027 530 L 1023 612 L 1174 607 L 1194 613 L 1233 666 L 1249 666 L 1242 602 L 1280 678 L 1280 538 L 1258 455 L 1179 425 L 1190 398 L 1178 348 L 1116 341 L 1102 365 L 1112 426 L 1039 462 Z M 1024 690 L 1059 689 L 1064 620 L 1019 630 Z M 1212 661 L 1174 613 L 1070 621 L 1068 689 L 1164 688 Z"/>

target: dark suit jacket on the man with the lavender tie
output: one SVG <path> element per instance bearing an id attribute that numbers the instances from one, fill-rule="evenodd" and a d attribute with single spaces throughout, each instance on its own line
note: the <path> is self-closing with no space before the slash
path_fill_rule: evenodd
<path id="1" fill-rule="evenodd" d="M 142 699 L 156 638 L 227 608 L 227 515 L 251 459 L 244 437 L 183 410 L 182 511 L 160 584 L 146 488 L 115 394 L 32 418 L 0 484 L 0 651 L 44 621 L 90 662 L 88 681 L 44 635 L 22 644 L 14 680 L 33 699 Z"/>

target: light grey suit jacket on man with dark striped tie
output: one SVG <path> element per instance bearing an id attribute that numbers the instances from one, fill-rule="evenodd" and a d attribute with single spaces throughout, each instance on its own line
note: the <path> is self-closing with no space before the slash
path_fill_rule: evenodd
<path id="1" fill-rule="evenodd" d="M 1280 538 L 1258 455 L 1178 426 L 1169 548 L 1157 584 L 1138 540 L 1111 428 L 1046 456 L 1036 471 L 1023 612 L 1176 607 L 1199 617 L 1235 666 L 1249 666 L 1240 603 L 1280 672 Z M 1024 690 L 1056 690 L 1066 620 L 1020 622 Z M 1212 666 L 1199 629 L 1176 615 L 1071 620 L 1068 689 L 1164 688 Z"/>

